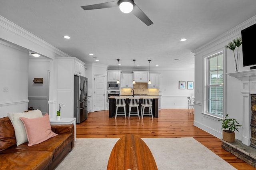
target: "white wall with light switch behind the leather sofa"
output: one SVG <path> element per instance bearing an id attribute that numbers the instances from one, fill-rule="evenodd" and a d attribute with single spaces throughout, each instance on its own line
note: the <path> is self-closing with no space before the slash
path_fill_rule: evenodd
<path id="1" fill-rule="evenodd" d="M 0 117 L 6 117 L 28 110 L 28 51 L 0 40 L 0 54 Z"/>

